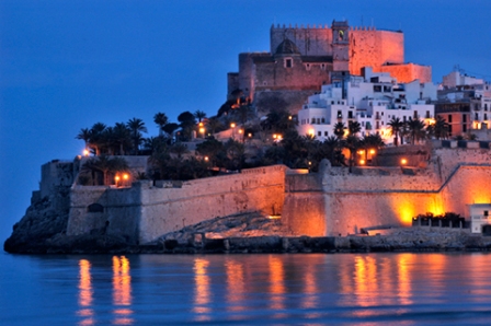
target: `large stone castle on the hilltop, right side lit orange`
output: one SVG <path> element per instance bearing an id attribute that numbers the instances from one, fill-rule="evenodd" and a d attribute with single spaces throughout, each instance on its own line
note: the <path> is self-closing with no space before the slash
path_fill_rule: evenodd
<path id="1" fill-rule="evenodd" d="M 270 53 L 239 55 L 239 72 L 227 74 L 228 97 L 238 90 L 258 112 L 285 107 L 296 114 L 323 84 L 364 67 L 388 72 L 399 82 L 430 82 L 429 66 L 404 63 L 404 35 L 375 27 L 353 27 L 347 21 L 328 26 L 272 26 Z"/>

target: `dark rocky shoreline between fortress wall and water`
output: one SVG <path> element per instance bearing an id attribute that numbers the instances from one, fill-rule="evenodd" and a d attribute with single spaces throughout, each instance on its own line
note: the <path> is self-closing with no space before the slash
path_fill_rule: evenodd
<path id="1" fill-rule="evenodd" d="M 39 207 L 38 207 L 39 208 Z M 367 252 L 468 252 L 490 251 L 491 237 L 468 229 L 396 228 L 384 235 L 309 237 L 292 234 L 279 220 L 258 213 L 217 218 L 153 243 L 130 244 L 123 236 L 91 234 L 68 236 L 67 219 L 53 211 L 34 213 L 14 226 L 4 251 L 15 254 L 255 254 L 255 253 L 367 253 Z M 37 210 L 38 212 L 39 210 Z M 41 210 L 43 211 L 43 210 Z"/>

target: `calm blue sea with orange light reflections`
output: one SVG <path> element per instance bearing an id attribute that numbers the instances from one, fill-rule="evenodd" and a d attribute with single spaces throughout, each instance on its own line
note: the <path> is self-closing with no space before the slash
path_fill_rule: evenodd
<path id="1" fill-rule="evenodd" d="M 0 325 L 490 325 L 491 254 L 0 254 Z"/>

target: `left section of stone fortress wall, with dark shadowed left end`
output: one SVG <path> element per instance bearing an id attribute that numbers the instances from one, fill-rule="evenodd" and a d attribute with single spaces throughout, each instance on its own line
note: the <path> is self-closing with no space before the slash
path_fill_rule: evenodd
<path id="1" fill-rule="evenodd" d="M 106 229 L 129 241 L 148 243 L 205 220 L 261 211 L 279 214 L 285 166 L 244 170 L 240 174 L 130 188 L 73 186 L 68 235 Z"/>

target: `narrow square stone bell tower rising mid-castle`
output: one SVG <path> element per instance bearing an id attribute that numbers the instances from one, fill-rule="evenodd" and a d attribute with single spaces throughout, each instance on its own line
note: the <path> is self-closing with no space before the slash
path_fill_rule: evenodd
<path id="1" fill-rule="evenodd" d="M 350 28 L 347 21 L 333 21 L 331 31 L 333 71 L 350 71 Z"/>

